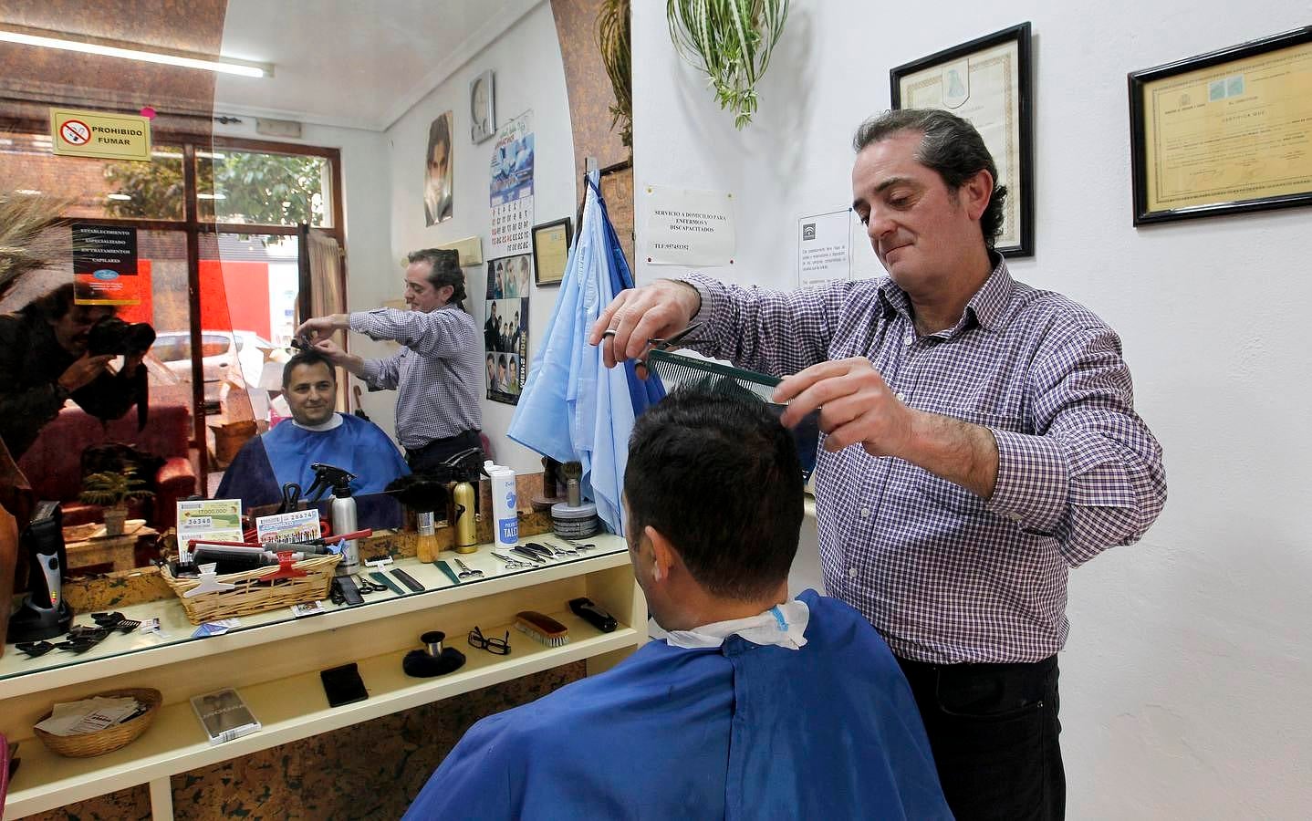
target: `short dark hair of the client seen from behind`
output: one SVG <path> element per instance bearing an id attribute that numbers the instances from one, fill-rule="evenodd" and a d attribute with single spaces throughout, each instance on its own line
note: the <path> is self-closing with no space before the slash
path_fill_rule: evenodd
<path id="1" fill-rule="evenodd" d="M 802 529 L 792 435 L 756 397 L 680 388 L 634 424 L 630 539 L 648 525 L 720 598 L 754 601 L 789 577 Z"/>

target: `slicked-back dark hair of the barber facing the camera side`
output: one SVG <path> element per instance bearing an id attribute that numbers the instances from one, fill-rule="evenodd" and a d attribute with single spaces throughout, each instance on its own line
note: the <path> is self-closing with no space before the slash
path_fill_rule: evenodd
<path id="1" fill-rule="evenodd" d="M 939 109 L 900 109 L 884 111 L 861 123 L 851 147 L 861 153 L 866 146 L 886 140 L 905 131 L 921 134 L 916 161 L 934 169 L 953 191 L 960 190 L 967 180 L 987 170 L 993 177 L 993 195 L 980 215 L 980 232 L 989 248 L 1002 233 L 1002 203 L 1006 186 L 998 185 L 997 164 L 988 152 L 984 138 L 970 122 Z"/>

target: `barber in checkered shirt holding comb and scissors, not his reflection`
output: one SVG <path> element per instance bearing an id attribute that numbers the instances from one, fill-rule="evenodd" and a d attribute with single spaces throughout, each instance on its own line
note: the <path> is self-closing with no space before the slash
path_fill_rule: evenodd
<path id="1" fill-rule="evenodd" d="M 887 278 L 659 281 L 617 296 L 590 341 L 609 366 L 703 320 L 703 353 L 791 374 L 785 424 L 821 408 L 827 434 L 825 586 L 899 657 L 953 812 L 1060 818 L 1067 573 L 1157 518 L 1161 447 L 1117 333 L 993 250 L 1006 190 L 968 122 L 891 111 L 853 142 L 853 209 Z"/>

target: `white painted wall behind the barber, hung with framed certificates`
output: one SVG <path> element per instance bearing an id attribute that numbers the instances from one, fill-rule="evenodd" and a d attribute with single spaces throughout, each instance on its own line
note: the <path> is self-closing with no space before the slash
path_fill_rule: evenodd
<path id="1" fill-rule="evenodd" d="M 1126 73 L 1305 25 L 1307 4 L 799 1 L 743 132 L 673 54 L 663 7 L 634 4 L 638 186 L 735 191 L 737 264 L 710 273 L 778 287 L 796 218 L 850 202 L 851 132 L 888 108 L 888 68 L 1033 21 L 1038 256 L 1012 271 L 1120 332 L 1170 484 L 1140 544 L 1071 577 L 1069 814 L 1305 817 L 1312 210 L 1135 230 Z"/>

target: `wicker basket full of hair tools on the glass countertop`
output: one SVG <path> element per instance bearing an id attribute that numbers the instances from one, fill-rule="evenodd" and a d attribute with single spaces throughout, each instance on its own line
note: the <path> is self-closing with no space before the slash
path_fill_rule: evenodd
<path id="1" fill-rule="evenodd" d="M 192 598 L 184 593 L 199 585 L 199 580 L 174 578 L 167 565 L 160 571 L 160 574 L 182 602 L 182 610 L 186 611 L 186 618 L 190 619 L 192 624 L 201 624 L 328 598 L 328 588 L 332 585 L 333 571 L 338 561 L 341 561 L 338 555 L 302 559 L 291 567 L 304 571 L 304 576 L 273 581 L 261 580 L 277 572 L 278 565 L 276 564 L 241 573 L 227 573 L 219 576 L 219 581 L 231 582 L 236 585 L 235 588 L 202 593 Z"/>

